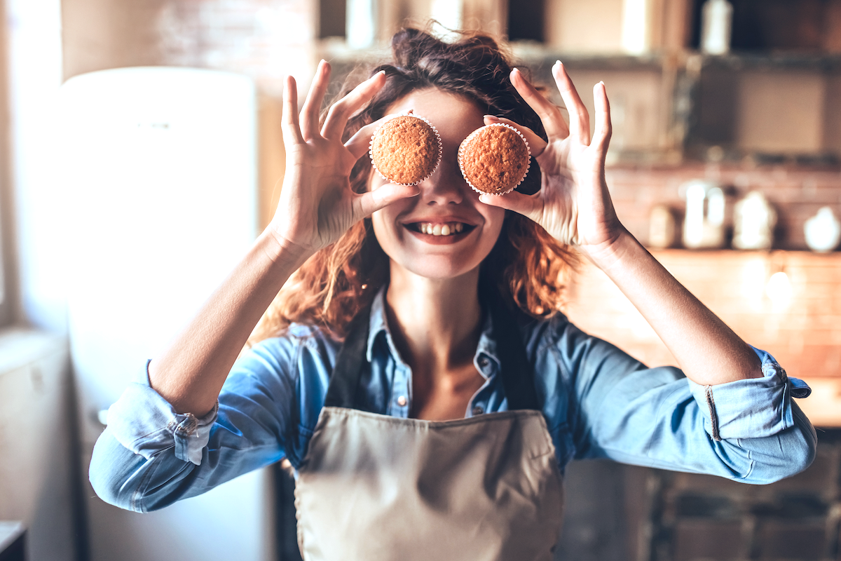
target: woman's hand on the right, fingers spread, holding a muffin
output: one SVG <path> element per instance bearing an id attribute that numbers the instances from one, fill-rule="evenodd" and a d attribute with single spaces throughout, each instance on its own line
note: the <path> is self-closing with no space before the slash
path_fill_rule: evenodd
<path id="1" fill-rule="evenodd" d="M 514 191 L 501 197 L 484 194 L 480 200 L 524 214 L 556 240 L 595 257 L 610 251 L 624 231 L 605 181 L 605 156 L 611 139 L 605 84 L 600 82 L 593 88 L 596 122 L 590 139 L 590 115 L 560 61 L 552 67 L 552 74 L 569 109 L 569 125 L 560 109 L 538 93 L 519 70 L 511 71 L 511 83 L 540 116 L 548 141 L 508 119 L 485 117 L 487 124 L 511 124 L 526 136 L 542 172 L 540 191 L 533 195 Z"/>

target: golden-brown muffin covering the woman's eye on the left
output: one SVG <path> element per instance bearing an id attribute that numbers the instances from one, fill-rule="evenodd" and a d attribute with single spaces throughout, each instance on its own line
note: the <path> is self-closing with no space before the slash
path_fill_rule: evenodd
<path id="1" fill-rule="evenodd" d="M 429 121 L 414 114 L 387 120 L 371 137 L 374 169 L 392 183 L 417 185 L 441 161 L 441 136 Z"/>

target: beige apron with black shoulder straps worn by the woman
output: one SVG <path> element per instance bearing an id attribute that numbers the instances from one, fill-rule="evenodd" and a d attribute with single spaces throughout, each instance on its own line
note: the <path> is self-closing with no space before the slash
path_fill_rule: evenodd
<path id="1" fill-rule="evenodd" d="M 553 558 L 563 485 L 521 338 L 510 316 L 499 317 L 505 311 L 492 304 L 511 410 L 458 421 L 357 409 L 369 368 L 368 314 L 360 315 L 298 468 L 304 561 Z"/>

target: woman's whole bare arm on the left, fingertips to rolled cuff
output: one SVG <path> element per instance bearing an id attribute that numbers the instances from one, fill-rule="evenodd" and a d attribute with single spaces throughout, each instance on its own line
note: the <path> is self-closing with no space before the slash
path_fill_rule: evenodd
<path id="1" fill-rule="evenodd" d="M 321 61 L 299 116 L 293 77 L 283 92 L 286 174 L 278 209 L 254 246 L 161 357 L 149 365 L 151 387 L 179 413 L 212 410 L 231 366 L 283 283 L 315 251 L 358 220 L 417 188 L 388 183 L 353 193 L 349 176 L 368 150 L 375 124 L 341 142 L 347 119 L 385 83 L 382 72 L 333 105 L 323 126 L 321 104 L 330 65 Z M 162 272 L 163 273 L 163 272 Z"/>

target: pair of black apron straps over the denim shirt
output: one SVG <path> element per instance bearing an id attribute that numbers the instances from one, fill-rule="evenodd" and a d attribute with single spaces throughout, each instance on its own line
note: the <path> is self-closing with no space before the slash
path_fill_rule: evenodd
<path id="1" fill-rule="evenodd" d="M 534 387 L 534 369 L 526 356 L 526 347 L 514 314 L 505 308 L 504 300 L 494 288 L 480 283 L 479 299 L 488 310 L 493 325 L 497 357 L 500 359 L 502 386 L 509 410 L 539 410 Z M 360 310 L 348 327 L 345 342 L 336 356 L 336 366 L 327 386 L 325 407 L 362 409 L 359 391 L 362 373 L 370 368 L 366 351 L 370 328 L 371 306 Z M 376 412 L 376 411 L 374 411 Z"/>

